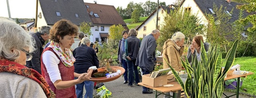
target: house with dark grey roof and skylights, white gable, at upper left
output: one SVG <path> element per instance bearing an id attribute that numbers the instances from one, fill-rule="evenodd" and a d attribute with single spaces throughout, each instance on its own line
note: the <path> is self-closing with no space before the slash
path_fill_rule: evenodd
<path id="1" fill-rule="evenodd" d="M 83 0 L 37 0 L 36 4 L 35 31 L 60 19 L 68 19 L 78 26 L 84 21 L 92 22 Z"/>

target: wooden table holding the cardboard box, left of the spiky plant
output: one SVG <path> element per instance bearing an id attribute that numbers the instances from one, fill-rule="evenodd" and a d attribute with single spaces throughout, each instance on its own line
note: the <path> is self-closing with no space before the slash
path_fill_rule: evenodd
<path id="1" fill-rule="evenodd" d="M 148 85 L 143 85 L 142 83 L 138 83 L 138 85 L 145 86 L 147 88 L 156 90 L 156 98 L 160 94 L 170 96 L 169 92 L 173 92 L 173 96 L 171 96 L 172 98 L 180 98 L 180 93 L 181 93 L 181 90 L 182 90 L 180 84 L 178 82 L 170 82 L 170 83 L 167 83 L 167 84 L 174 85 L 174 86 L 170 86 L 170 87 L 164 87 L 164 86 L 151 87 L 151 86 L 148 86 Z M 157 92 L 160 92 L 160 94 L 157 94 Z M 168 94 L 165 94 L 165 93 L 168 93 Z"/>

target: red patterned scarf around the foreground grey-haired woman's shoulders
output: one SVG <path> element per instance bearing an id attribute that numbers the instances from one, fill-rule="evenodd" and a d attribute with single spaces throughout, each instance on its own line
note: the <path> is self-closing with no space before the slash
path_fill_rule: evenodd
<path id="1" fill-rule="evenodd" d="M 34 69 L 30 69 L 24 65 L 20 65 L 14 61 L 9 61 L 4 58 L 0 58 L 0 72 L 10 72 L 18 75 L 28 77 L 36 81 L 44 90 L 47 98 L 55 98 L 54 92 L 50 89 L 45 79 Z"/>

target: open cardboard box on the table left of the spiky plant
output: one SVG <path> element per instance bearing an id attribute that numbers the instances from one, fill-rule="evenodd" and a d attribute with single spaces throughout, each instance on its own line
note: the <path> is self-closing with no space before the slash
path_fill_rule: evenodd
<path id="1" fill-rule="evenodd" d="M 160 77 L 151 78 L 150 74 L 142 75 L 142 84 L 148 85 L 151 87 L 167 85 L 167 79 L 166 79 L 167 76 L 168 75 L 163 75 Z"/>

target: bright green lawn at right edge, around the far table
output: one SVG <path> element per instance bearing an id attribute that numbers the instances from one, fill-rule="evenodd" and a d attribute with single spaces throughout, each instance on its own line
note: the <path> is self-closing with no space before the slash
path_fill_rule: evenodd
<path id="1" fill-rule="evenodd" d="M 234 61 L 234 65 L 241 65 L 240 70 L 243 71 L 251 71 L 254 74 L 248 75 L 246 78 L 241 78 L 243 84 L 240 88 L 240 92 L 244 92 L 251 95 L 256 95 L 256 57 L 241 57 L 236 58 Z M 247 92 L 243 89 L 246 88 Z M 236 90 L 234 90 L 235 92 Z"/>

